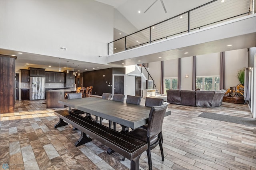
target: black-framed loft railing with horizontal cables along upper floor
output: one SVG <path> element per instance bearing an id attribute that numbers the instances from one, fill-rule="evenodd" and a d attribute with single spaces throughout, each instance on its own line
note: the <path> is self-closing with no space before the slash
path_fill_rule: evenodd
<path id="1" fill-rule="evenodd" d="M 212 0 L 168 20 L 108 43 L 108 55 L 253 13 L 254 0 Z"/>

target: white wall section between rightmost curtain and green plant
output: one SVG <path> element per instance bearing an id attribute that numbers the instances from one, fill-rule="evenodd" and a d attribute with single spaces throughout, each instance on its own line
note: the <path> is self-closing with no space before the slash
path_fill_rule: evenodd
<path id="1" fill-rule="evenodd" d="M 243 67 L 248 67 L 247 49 L 238 49 L 225 52 L 225 89 L 239 84 L 237 71 Z"/>

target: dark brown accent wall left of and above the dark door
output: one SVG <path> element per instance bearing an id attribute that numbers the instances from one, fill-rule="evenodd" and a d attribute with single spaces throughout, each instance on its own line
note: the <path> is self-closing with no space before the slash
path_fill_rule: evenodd
<path id="1" fill-rule="evenodd" d="M 125 68 L 109 68 L 83 72 L 83 86 L 93 86 L 92 95 L 101 96 L 102 93 L 112 93 L 113 74 L 125 74 Z"/>

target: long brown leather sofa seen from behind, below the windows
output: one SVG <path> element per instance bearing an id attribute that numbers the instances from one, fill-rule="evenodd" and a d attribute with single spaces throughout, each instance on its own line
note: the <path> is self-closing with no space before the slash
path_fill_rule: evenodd
<path id="1" fill-rule="evenodd" d="M 192 90 L 167 90 L 167 102 L 177 105 L 197 107 L 219 107 L 225 90 L 218 91 L 192 91 Z"/>

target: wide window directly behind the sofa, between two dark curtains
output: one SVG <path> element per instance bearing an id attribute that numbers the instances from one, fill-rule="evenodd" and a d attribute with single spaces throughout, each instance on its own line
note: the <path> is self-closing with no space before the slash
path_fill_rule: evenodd
<path id="1" fill-rule="evenodd" d="M 219 90 L 220 77 L 196 77 L 196 89 L 200 90 Z"/>

